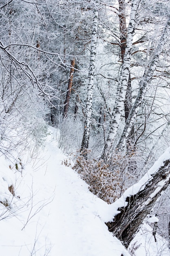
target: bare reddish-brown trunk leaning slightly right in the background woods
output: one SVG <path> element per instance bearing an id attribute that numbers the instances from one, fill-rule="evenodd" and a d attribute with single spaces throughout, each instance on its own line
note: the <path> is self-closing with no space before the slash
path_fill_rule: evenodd
<path id="1" fill-rule="evenodd" d="M 73 83 L 74 66 L 75 66 L 75 58 L 71 61 L 71 69 L 70 69 L 70 76 L 69 76 L 69 80 L 68 80 L 66 100 L 64 102 L 63 117 L 66 117 L 67 113 L 68 113 L 68 106 L 69 106 L 71 88 L 72 88 L 72 83 Z"/>

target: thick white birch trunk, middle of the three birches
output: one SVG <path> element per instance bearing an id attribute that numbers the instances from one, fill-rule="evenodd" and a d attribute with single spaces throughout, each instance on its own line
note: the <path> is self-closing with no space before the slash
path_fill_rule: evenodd
<path id="1" fill-rule="evenodd" d="M 132 0 L 131 4 L 131 14 L 130 22 L 127 30 L 127 40 L 126 40 L 126 49 L 124 53 L 123 64 L 121 67 L 121 80 L 118 85 L 119 96 L 115 103 L 115 108 L 113 109 L 112 118 L 110 120 L 109 134 L 106 140 L 106 144 L 102 153 L 102 157 L 107 161 L 110 159 L 113 149 L 113 140 L 117 134 L 118 126 L 121 120 L 121 115 L 124 110 L 124 100 L 126 97 L 126 90 L 130 74 L 130 60 L 131 60 L 131 50 L 133 36 L 135 32 L 135 15 L 137 9 L 137 0 Z"/>

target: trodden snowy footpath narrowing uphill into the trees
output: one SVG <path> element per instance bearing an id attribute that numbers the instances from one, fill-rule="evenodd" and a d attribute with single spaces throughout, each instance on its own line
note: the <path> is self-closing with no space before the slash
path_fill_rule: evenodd
<path id="1" fill-rule="evenodd" d="M 50 215 L 52 255 L 121 255 L 124 247 L 108 232 L 98 214 L 107 204 L 88 191 L 88 185 L 71 167 L 61 165 L 64 155 L 55 142 L 50 142 L 47 148 L 51 161 L 46 175 L 52 178 L 53 187 L 56 185 Z"/>

